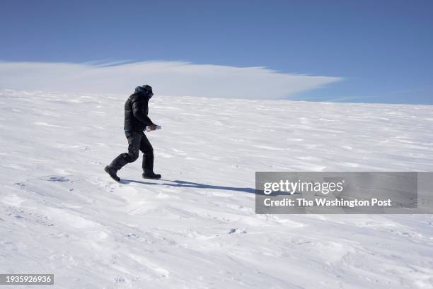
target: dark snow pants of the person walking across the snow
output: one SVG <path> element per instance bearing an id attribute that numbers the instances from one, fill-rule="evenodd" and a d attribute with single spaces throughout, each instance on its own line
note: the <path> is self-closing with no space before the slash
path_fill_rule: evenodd
<path id="1" fill-rule="evenodd" d="M 115 170 L 120 170 L 127 163 L 132 163 L 139 157 L 139 151 L 143 153 L 143 171 L 154 171 L 154 148 L 144 135 L 143 131 L 125 131 L 125 136 L 128 140 L 128 152 L 117 155 L 111 163 L 110 167 Z"/>

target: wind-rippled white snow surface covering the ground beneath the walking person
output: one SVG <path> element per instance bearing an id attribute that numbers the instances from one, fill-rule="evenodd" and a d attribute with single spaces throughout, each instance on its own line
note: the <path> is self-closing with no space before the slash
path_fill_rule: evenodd
<path id="1" fill-rule="evenodd" d="M 432 215 L 255 215 L 255 171 L 431 171 L 433 107 L 0 90 L 0 273 L 37 288 L 433 288 Z M 14 288 L 25 288 L 17 285 Z M 32 287 L 33 288 L 33 287 Z"/>

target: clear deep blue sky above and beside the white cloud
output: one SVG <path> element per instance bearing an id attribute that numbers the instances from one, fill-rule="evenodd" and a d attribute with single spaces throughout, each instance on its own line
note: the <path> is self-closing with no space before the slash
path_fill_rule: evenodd
<path id="1" fill-rule="evenodd" d="M 186 61 L 342 78 L 303 100 L 433 104 L 433 1 L 1 1 L 1 61 Z"/>

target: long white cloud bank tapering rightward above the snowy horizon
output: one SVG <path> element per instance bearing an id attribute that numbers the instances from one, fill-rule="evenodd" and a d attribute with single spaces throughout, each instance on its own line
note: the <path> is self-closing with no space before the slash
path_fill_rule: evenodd
<path id="1" fill-rule="evenodd" d="M 214 98 L 286 98 L 340 81 L 330 76 L 279 73 L 265 67 L 190 64 L 183 61 L 71 64 L 0 62 L 0 88 L 65 93 L 130 93 L 149 83 L 156 95 Z"/>

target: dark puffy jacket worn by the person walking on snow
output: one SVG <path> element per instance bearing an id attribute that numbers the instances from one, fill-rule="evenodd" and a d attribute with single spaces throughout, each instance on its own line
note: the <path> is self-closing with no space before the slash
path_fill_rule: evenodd
<path id="1" fill-rule="evenodd" d="M 147 113 L 149 98 L 143 93 L 133 93 L 125 102 L 125 131 L 144 131 L 146 126 L 154 124 Z"/>

